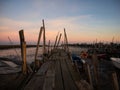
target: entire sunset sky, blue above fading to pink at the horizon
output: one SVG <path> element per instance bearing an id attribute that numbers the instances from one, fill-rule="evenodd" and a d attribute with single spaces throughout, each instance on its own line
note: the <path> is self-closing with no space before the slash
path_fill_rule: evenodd
<path id="1" fill-rule="evenodd" d="M 21 29 L 36 44 L 42 19 L 47 42 L 64 28 L 69 43 L 120 42 L 120 0 L 0 0 L 0 44 L 19 44 Z"/>

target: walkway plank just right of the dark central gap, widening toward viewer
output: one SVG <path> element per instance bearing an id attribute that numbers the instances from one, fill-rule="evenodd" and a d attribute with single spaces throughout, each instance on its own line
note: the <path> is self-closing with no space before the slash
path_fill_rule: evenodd
<path id="1" fill-rule="evenodd" d="M 71 73 L 68 70 L 65 60 L 60 60 L 62 67 L 62 76 L 65 90 L 78 90 L 74 80 L 71 77 Z"/>

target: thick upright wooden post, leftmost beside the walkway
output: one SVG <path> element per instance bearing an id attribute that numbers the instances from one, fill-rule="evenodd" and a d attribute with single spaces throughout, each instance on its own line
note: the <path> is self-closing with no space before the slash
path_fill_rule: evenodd
<path id="1" fill-rule="evenodd" d="M 23 74 L 27 74 L 27 64 L 26 64 L 26 42 L 24 38 L 24 31 L 19 31 L 20 36 L 20 45 L 21 45 L 21 57 L 22 57 L 22 72 Z"/>

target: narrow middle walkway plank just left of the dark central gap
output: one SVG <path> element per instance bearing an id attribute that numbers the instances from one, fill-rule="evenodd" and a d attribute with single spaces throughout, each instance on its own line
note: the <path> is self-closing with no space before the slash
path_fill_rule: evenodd
<path id="1" fill-rule="evenodd" d="M 64 90 L 60 61 L 55 64 L 55 90 Z"/>

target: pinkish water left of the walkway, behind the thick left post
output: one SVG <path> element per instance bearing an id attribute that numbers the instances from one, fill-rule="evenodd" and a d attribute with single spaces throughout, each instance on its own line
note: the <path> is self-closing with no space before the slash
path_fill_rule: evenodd
<path id="1" fill-rule="evenodd" d="M 26 60 L 27 63 L 30 64 L 34 61 L 35 58 L 35 47 L 27 48 L 26 49 Z M 15 49 L 7 49 L 7 50 L 0 50 L 0 57 L 5 57 L 9 59 L 15 59 L 15 60 L 21 60 L 21 49 L 16 48 L 17 53 L 15 52 Z M 42 54 L 42 48 L 39 47 L 38 56 Z"/>

